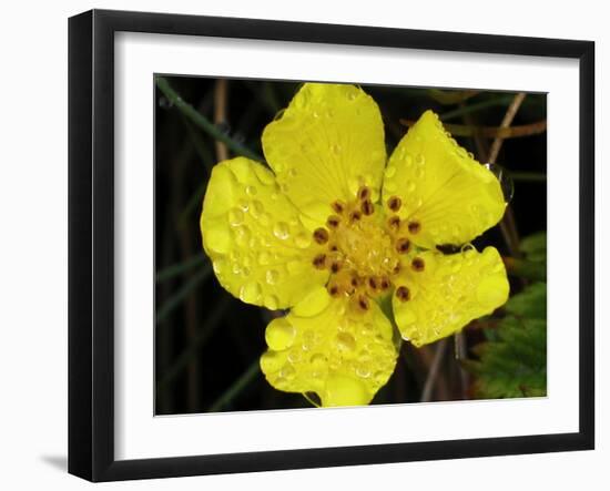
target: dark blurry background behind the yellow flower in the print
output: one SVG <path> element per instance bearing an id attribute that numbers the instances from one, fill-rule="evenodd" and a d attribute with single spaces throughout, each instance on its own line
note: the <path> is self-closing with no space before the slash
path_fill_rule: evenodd
<path id="1" fill-rule="evenodd" d="M 263 155 L 263 129 L 287 106 L 301 85 L 187 76 L 165 79 L 217 131 L 260 155 Z M 407 130 L 404 121 L 417 120 L 427 109 L 439 114 L 446 124 L 498 126 L 515 95 L 479 91 L 456 102 L 458 91 L 444 90 L 439 94 L 416 88 L 363 85 L 363 89 L 382 111 L 388 156 Z M 457 99 L 451 101 L 451 94 Z M 266 382 L 257 360 L 266 349 L 264 329 L 270 314 L 233 298 L 220 287 L 203 254 L 199 219 L 210 171 L 218 162 L 215 139 L 184 116 L 159 89 L 154 104 L 156 413 L 311 407 L 303 396 L 281 392 Z M 545 121 L 546 108 L 545 94 L 528 94 L 512 125 Z M 486 162 L 492 139 L 453 133 L 460 145 Z M 546 132 L 508 139 L 497 161 L 515 177 L 511 227 L 519 236 L 547 227 L 546 141 Z M 228 155 L 234 153 L 230 150 Z M 487 244 L 496 246 L 502 256 L 511 254 L 499 226 L 475 241 L 477 247 Z M 464 333 L 467 348 L 480 340 L 478 329 Z M 468 349 L 466 355 L 470 356 Z M 414 349 L 403 344 L 396 370 L 373 403 L 419 401 L 433 358 L 434 345 Z M 469 378 L 453 354 L 444 358 L 430 400 L 471 397 Z"/>

